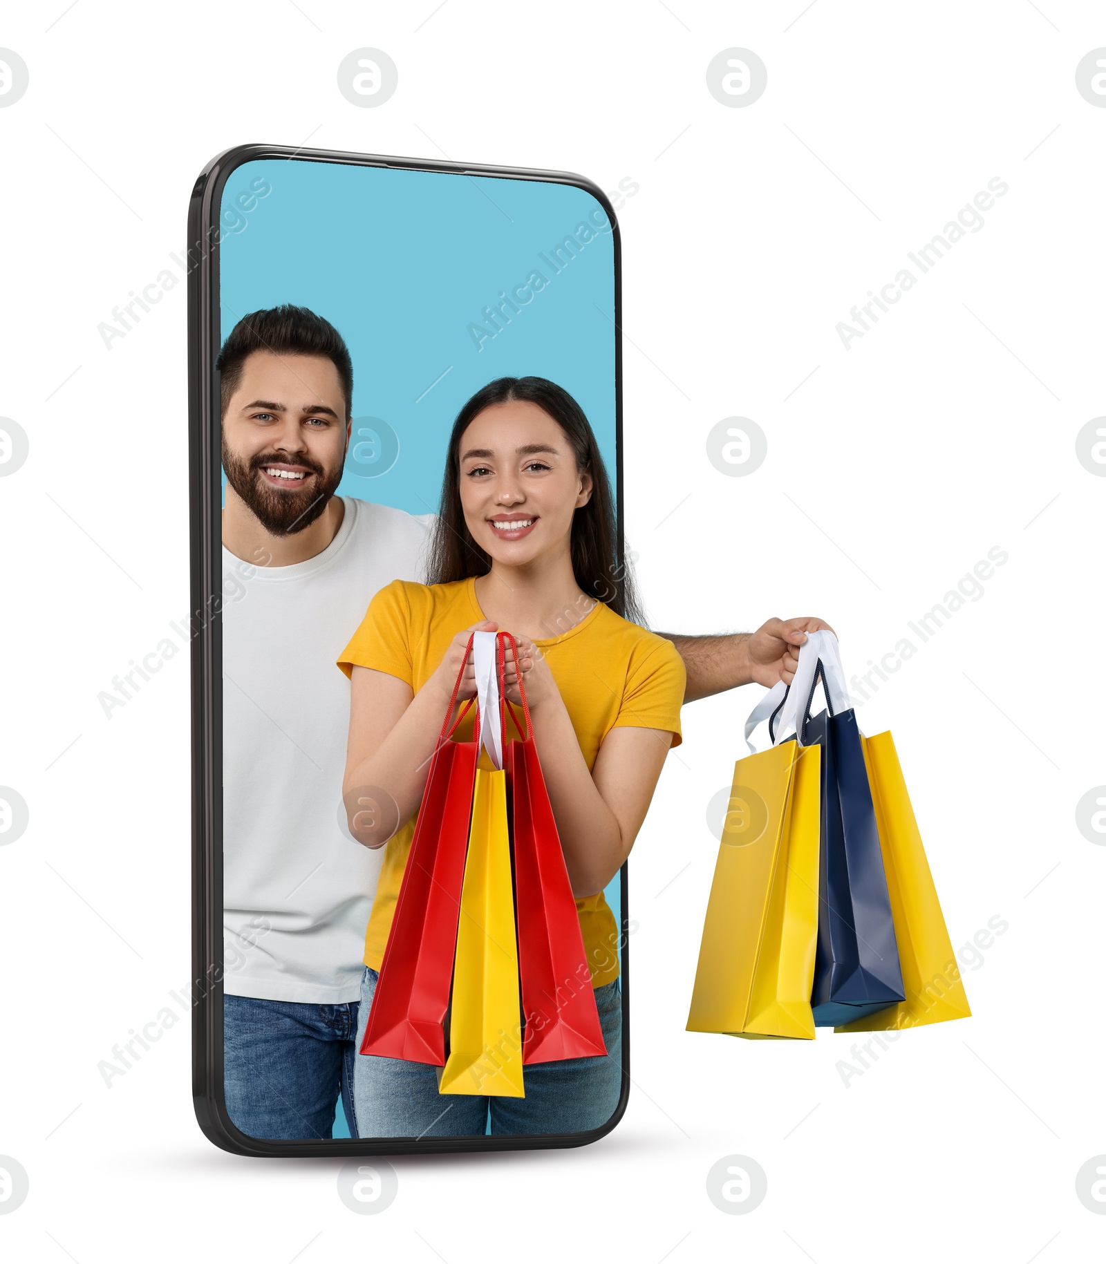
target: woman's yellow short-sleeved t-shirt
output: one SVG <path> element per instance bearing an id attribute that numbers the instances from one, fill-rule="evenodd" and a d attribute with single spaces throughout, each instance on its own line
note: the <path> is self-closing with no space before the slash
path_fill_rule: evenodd
<path id="1" fill-rule="evenodd" d="M 594 766 L 612 728 L 665 729 L 678 746 L 685 678 L 672 642 L 629 623 L 602 602 L 575 626 L 569 626 L 571 617 L 566 612 L 564 632 L 535 645 L 549 662 L 588 767 Z M 397 579 L 373 598 L 337 665 L 348 676 L 355 666 L 386 671 L 418 693 L 458 632 L 483 619 L 473 579 L 432 585 Z M 456 736 L 471 741 L 469 717 Z M 372 969 L 379 969 L 384 957 L 413 836 L 412 819 L 384 848 L 365 932 L 364 959 Z M 602 891 L 576 900 L 576 909 L 592 985 L 602 987 L 618 977 L 614 914 Z"/>

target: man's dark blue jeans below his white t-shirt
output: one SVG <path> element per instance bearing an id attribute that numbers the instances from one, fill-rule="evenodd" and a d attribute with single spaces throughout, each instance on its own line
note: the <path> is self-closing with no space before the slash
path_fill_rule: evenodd
<path id="1" fill-rule="evenodd" d="M 226 1111 L 246 1136 L 329 1138 L 339 1096 L 350 1136 L 358 1002 L 301 1005 L 225 996 Z"/>

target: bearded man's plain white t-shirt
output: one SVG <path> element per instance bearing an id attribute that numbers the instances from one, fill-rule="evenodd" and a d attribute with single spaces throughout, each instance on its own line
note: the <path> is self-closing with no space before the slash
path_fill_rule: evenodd
<path id="1" fill-rule="evenodd" d="M 222 550 L 225 991 L 360 996 L 383 848 L 354 842 L 341 781 L 349 681 L 337 657 L 375 593 L 418 579 L 432 514 L 343 497 L 337 535 L 295 566 Z"/>

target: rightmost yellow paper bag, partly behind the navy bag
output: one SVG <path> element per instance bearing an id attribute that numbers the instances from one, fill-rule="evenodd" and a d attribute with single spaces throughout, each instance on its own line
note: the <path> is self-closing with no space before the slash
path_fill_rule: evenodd
<path id="1" fill-rule="evenodd" d="M 906 1000 L 837 1031 L 889 1031 L 971 1018 L 956 953 L 890 733 L 863 738 Z"/>

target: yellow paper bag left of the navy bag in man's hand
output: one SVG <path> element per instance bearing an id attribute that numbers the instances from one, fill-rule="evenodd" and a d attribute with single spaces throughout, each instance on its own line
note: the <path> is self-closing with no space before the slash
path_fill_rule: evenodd
<path id="1" fill-rule="evenodd" d="M 734 766 L 689 1031 L 814 1039 L 820 760 L 791 741 Z"/>

